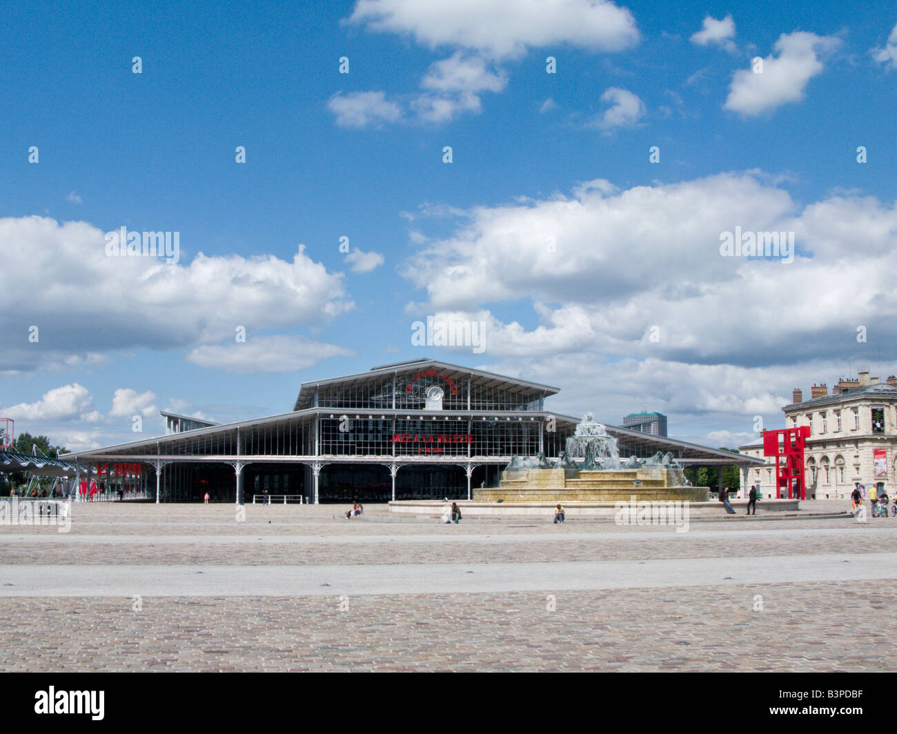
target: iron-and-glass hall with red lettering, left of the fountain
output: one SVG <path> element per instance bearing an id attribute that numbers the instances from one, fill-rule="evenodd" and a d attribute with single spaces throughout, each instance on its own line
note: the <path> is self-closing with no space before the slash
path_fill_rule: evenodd
<path id="1" fill-rule="evenodd" d="M 512 456 L 560 456 L 577 420 L 544 410 L 556 392 L 447 363 L 402 363 L 303 383 L 292 413 L 72 458 L 148 465 L 138 476 L 151 490 L 164 465 L 165 502 L 199 502 L 206 492 L 234 502 L 238 484 L 245 502 L 265 494 L 306 502 L 466 498 L 472 487 L 497 485 Z M 670 450 L 645 433 L 615 430 L 623 459 Z"/>

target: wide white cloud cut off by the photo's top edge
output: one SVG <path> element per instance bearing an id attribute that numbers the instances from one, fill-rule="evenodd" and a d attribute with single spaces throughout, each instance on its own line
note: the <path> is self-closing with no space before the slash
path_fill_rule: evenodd
<path id="1" fill-rule="evenodd" d="M 350 21 L 493 58 L 562 43 L 620 51 L 639 40 L 632 14 L 607 0 L 359 0 Z"/>

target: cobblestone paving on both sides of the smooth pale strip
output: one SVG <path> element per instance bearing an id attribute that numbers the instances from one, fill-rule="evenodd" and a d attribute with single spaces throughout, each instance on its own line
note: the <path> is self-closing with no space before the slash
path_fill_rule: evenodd
<path id="1" fill-rule="evenodd" d="M 377 522 L 383 509 L 376 506 L 367 521 L 350 521 L 341 510 L 248 505 L 248 521 L 237 523 L 232 505 L 76 505 L 69 534 L 0 526 L 0 572 L 31 564 L 425 567 L 826 553 L 863 564 L 864 555 L 897 551 L 897 520 L 761 515 L 692 522 L 676 534 L 608 521 Z M 524 591 L 144 596 L 139 604 L 0 598 L 0 670 L 897 669 L 893 580 L 554 597 L 553 610 L 547 593 Z"/>

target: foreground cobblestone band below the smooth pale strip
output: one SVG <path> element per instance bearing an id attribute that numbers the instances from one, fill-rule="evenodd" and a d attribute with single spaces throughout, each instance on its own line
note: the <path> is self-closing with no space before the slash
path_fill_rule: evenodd
<path id="1" fill-rule="evenodd" d="M 894 670 L 895 581 L 305 598 L 0 599 L 4 670 Z M 754 611 L 757 597 L 762 611 Z M 346 611 L 340 611 L 348 605 Z"/>

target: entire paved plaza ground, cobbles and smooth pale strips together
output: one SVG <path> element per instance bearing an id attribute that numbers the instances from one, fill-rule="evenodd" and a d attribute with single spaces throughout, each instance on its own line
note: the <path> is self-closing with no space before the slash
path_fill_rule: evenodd
<path id="1" fill-rule="evenodd" d="M 0 669 L 897 669 L 897 519 L 366 509 L 96 503 L 67 534 L 0 526 Z"/>

